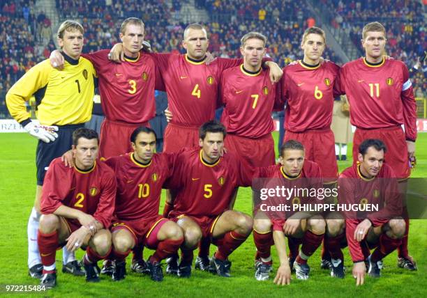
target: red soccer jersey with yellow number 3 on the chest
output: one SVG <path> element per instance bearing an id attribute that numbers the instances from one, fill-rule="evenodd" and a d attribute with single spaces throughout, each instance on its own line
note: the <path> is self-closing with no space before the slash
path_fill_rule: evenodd
<path id="1" fill-rule="evenodd" d="M 114 63 L 108 60 L 109 52 L 103 49 L 82 55 L 93 63 L 98 74 L 105 117 L 124 123 L 144 123 L 151 120 L 156 115 L 154 88 L 156 82 L 161 84 L 153 58 L 140 52 L 135 60 L 126 58 L 125 62 Z"/>

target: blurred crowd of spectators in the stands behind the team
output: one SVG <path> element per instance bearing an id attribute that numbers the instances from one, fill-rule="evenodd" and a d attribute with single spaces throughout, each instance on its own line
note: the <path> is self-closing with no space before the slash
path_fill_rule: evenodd
<path id="1" fill-rule="evenodd" d="M 84 52 L 110 48 L 119 42 L 120 24 L 126 17 L 144 20 L 145 39 L 154 51 L 183 52 L 181 40 L 186 24 L 180 22 L 181 1 L 56 0 L 56 4 L 60 8 L 60 20 L 82 22 L 86 31 Z M 321 0 L 320 5 L 336 12 L 331 25 L 347 30 L 359 49 L 361 28 L 367 22 L 379 20 L 387 29 L 389 56 L 405 61 L 408 68 L 412 68 L 424 54 L 426 25 L 423 14 L 419 13 L 423 10 L 419 1 L 396 0 L 390 5 L 387 0 Z M 206 10 L 211 18 L 204 25 L 213 56 L 239 57 L 243 33 L 260 31 L 268 38 L 267 53 L 280 66 L 303 56 L 301 36 L 308 26 L 316 24 L 307 5 L 301 1 L 196 0 L 195 6 Z M 52 22 L 43 10 L 36 13 L 35 0 L 1 4 L 0 90 L 3 93 L 31 66 L 50 55 L 55 48 L 52 38 Z M 329 49 L 324 58 L 338 64 L 343 62 Z M 422 67 L 419 69 L 412 71 L 415 93 L 425 97 L 427 82 Z"/>

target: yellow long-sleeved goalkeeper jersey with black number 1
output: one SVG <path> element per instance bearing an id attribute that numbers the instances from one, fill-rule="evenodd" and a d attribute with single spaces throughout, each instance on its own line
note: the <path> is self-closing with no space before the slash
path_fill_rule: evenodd
<path id="1" fill-rule="evenodd" d="M 22 123 L 29 119 L 25 102 L 36 97 L 36 116 L 43 125 L 68 125 L 90 120 L 96 71 L 86 58 L 64 54 L 63 70 L 50 65 L 50 59 L 31 68 L 6 94 L 10 115 Z"/>

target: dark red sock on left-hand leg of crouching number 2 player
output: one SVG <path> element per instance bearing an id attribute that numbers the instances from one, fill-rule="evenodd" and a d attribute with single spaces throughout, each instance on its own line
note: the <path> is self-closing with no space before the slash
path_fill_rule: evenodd
<path id="1" fill-rule="evenodd" d="M 43 234 L 38 230 L 37 244 L 43 264 L 43 274 L 55 271 L 55 256 L 57 255 L 58 233 L 57 230 L 49 234 Z"/>

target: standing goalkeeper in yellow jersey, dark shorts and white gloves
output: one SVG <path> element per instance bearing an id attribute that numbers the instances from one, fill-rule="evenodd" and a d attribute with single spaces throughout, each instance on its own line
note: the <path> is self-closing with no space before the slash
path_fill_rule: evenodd
<path id="1" fill-rule="evenodd" d="M 37 246 L 38 221 L 40 219 L 40 196 L 47 166 L 52 159 L 61 156 L 72 145 L 73 131 L 82 127 L 91 118 L 93 98 L 93 65 L 80 57 L 83 47 L 83 27 L 67 20 L 59 26 L 58 43 L 65 59 L 63 71 L 50 67 L 45 60 L 35 65 L 6 94 L 10 115 L 31 136 L 38 139 L 36 152 L 37 187 L 36 200 L 28 222 L 29 274 L 41 277 L 43 266 Z M 29 118 L 24 102 L 36 97 L 37 125 Z M 80 265 L 73 253 L 63 251 L 63 272 L 82 275 Z"/>

